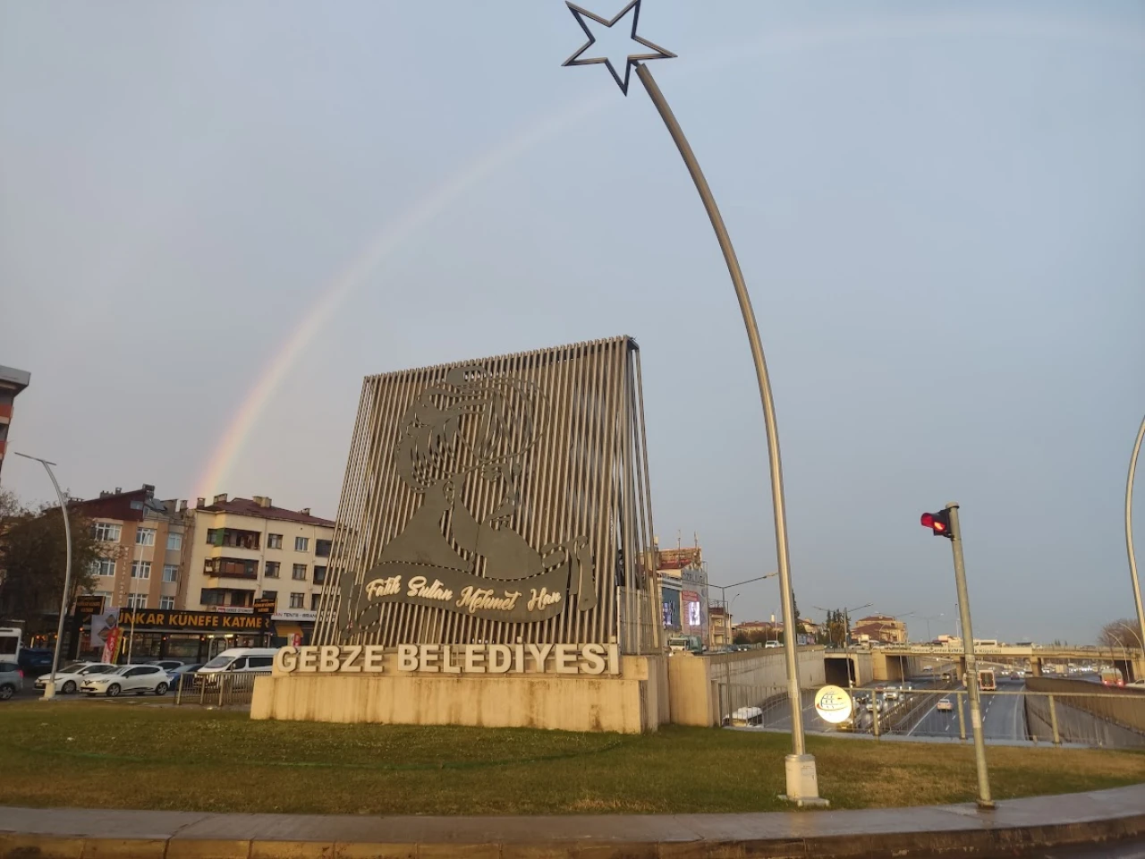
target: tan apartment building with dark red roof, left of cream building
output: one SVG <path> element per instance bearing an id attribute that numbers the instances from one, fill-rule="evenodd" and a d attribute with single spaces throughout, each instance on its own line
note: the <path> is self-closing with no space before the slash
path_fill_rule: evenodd
<path id="1" fill-rule="evenodd" d="M 95 564 L 94 593 L 106 607 L 176 608 L 184 575 L 187 502 L 160 501 L 155 487 L 100 492 L 69 510 L 92 520 L 93 536 L 108 544 Z"/>

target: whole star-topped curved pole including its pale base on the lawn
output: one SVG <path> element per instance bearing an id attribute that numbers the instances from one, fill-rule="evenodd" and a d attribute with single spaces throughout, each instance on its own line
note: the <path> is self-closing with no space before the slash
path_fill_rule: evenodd
<path id="1" fill-rule="evenodd" d="M 787 533 L 787 505 L 783 496 L 783 468 L 780 462 L 780 439 L 775 418 L 775 402 L 772 396 L 771 378 L 767 375 L 767 363 L 764 360 L 763 342 L 759 339 L 759 326 L 756 324 L 756 314 L 751 308 L 751 298 L 748 294 L 748 285 L 743 279 L 743 271 L 740 269 L 740 262 L 736 259 L 735 249 L 732 246 L 732 238 L 728 236 L 727 227 L 724 224 L 724 216 L 720 214 L 719 207 L 716 205 L 716 198 L 712 196 L 711 188 L 708 186 L 708 180 L 704 178 L 703 171 L 700 168 L 700 163 L 696 160 L 696 156 L 692 151 L 692 145 L 688 143 L 687 137 L 684 136 L 684 131 L 680 128 L 680 124 L 676 120 L 672 109 L 664 98 L 664 94 L 656 85 L 655 79 L 652 77 L 652 72 L 648 71 L 648 66 L 645 65 L 646 61 L 669 60 L 676 55 L 657 45 L 654 45 L 647 39 L 642 39 L 637 36 L 637 24 L 640 19 L 640 0 L 630 0 L 630 2 L 611 19 L 594 15 L 587 9 L 572 3 L 571 0 L 566 0 L 566 5 L 568 6 L 569 11 L 572 13 L 572 17 L 576 18 L 577 24 L 581 25 L 584 34 L 589 38 L 589 41 L 574 53 L 572 56 L 566 60 L 563 64 L 603 64 L 611 73 L 616 85 L 621 88 L 621 92 L 625 95 L 627 95 L 629 92 L 629 74 L 632 69 L 637 70 L 637 77 L 640 78 L 640 82 L 648 93 L 648 97 L 652 98 L 653 104 L 656 105 L 656 110 L 660 113 L 661 119 L 664 120 L 664 125 L 668 127 L 669 134 L 672 135 L 672 141 L 676 143 L 676 148 L 680 151 L 680 157 L 684 158 L 688 173 L 692 174 L 692 181 L 695 183 L 696 190 L 700 192 L 700 199 L 703 202 L 704 208 L 708 212 L 708 218 L 711 221 L 712 229 L 716 231 L 716 239 L 719 242 L 720 250 L 724 252 L 724 262 L 727 265 L 728 274 L 732 277 L 732 287 L 735 290 L 735 297 L 740 304 L 740 313 L 743 316 L 743 324 L 748 333 L 748 345 L 751 349 L 751 358 L 756 368 L 756 380 L 759 385 L 759 400 L 764 410 L 764 426 L 766 430 L 767 463 L 772 483 L 772 513 L 775 520 L 775 559 L 780 577 L 780 606 L 782 609 L 784 628 L 793 630 L 798 625 L 799 618 L 795 616 L 795 599 L 791 593 L 791 568 L 788 554 Z M 618 22 L 627 18 L 629 15 L 632 16 L 632 40 L 647 50 L 629 54 L 625 57 L 624 74 L 622 77 L 607 56 L 584 56 L 585 52 L 589 50 L 589 48 L 591 48 L 597 41 L 597 37 L 592 34 L 592 30 L 589 27 L 587 22 L 592 21 L 606 27 L 611 27 Z M 787 797 L 799 804 L 819 804 L 821 801 L 819 798 L 819 779 L 815 773 L 815 758 L 813 755 L 807 754 L 807 743 L 803 731 L 803 707 L 800 703 L 799 689 L 799 660 L 798 652 L 796 649 L 796 639 L 790 635 L 784 636 L 783 638 L 783 651 L 787 662 L 788 700 L 791 704 L 791 755 L 788 755 L 785 758 Z"/>

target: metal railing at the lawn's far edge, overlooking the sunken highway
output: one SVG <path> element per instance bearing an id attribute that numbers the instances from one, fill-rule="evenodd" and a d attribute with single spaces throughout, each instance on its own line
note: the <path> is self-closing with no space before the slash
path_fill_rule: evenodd
<path id="1" fill-rule="evenodd" d="M 718 683 L 725 726 L 790 730 L 785 688 Z M 872 738 L 968 741 L 970 704 L 954 680 L 851 691 L 854 710 L 839 725 L 824 722 L 814 707 L 814 691 L 803 692 L 804 726 L 814 733 L 850 733 Z M 1009 688 L 1008 688 L 1009 686 Z M 1088 688 L 1087 688 L 1088 687 Z M 1083 683 L 1080 691 L 1027 688 L 1000 684 L 981 692 L 982 732 L 987 743 L 1069 743 L 1145 748 L 1145 695 Z"/>

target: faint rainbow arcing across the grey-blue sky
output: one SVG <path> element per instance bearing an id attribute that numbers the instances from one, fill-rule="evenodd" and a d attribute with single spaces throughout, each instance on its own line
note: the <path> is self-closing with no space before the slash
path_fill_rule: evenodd
<path id="1" fill-rule="evenodd" d="M 903 39 L 950 32 L 1004 33 L 1010 36 L 1090 40 L 1111 47 L 1139 53 L 1145 50 L 1145 39 L 1136 31 L 1092 24 L 1077 18 L 1042 18 L 1040 16 L 990 16 L 958 13 L 903 22 L 890 18 L 867 21 L 845 27 L 821 29 L 808 33 L 800 29 L 774 30 L 764 38 L 696 57 L 695 71 L 718 71 L 764 53 L 790 53 L 821 49 L 844 42 Z M 208 498 L 218 487 L 224 486 L 255 421 L 270 397 L 282 385 L 286 373 L 299 356 L 338 310 L 346 298 L 394 251 L 411 236 L 429 224 L 455 200 L 474 186 L 488 179 L 503 166 L 527 152 L 542 141 L 581 121 L 606 104 L 617 104 L 616 93 L 601 86 L 594 97 L 584 98 L 552 113 L 523 131 L 507 137 L 499 145 L 467 164 L 455 175 L 418 200 L 395 221 L 387 224 L 366 245 L 363 252 L 337 277 L 318 290 L 318 297 L 302 314 L 298 325 L 282 347 L 271 355 L 262 372 L 251 386 L 242 405 L 226 432 L 219 439 L 197 481 L 196 494 Z"/>

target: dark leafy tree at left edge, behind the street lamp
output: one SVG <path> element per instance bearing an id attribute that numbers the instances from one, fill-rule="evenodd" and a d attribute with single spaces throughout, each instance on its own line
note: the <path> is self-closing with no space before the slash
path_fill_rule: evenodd
<path id="1" fill-rule="evenodd" d="M 106 555 L 106 546 L 92 535 L 90 520 L 74 513 L 69 520 L 74 599 L 94 588 L 93 567 Z M 60 610 L 66 550 L 58 506 L 32 510 L 10 492 L 0 497 L 0 622 L 23 621 L 29 635 L 46 631 L 44 615 Z"/>

